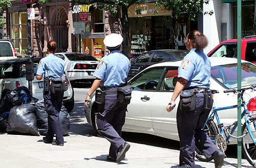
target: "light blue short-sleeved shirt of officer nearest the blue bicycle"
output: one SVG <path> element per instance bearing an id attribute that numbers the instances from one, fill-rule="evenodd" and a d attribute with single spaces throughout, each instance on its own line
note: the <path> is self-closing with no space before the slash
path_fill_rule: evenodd
<path id="1" fill-rule="evenodd" d="M 182 60 L 181 66 L 178 69 L 178 77 L 188 80 L 185 88 L 209 88 L 210 69 L 209 58 L 203 51 L 193 48 Z"/>

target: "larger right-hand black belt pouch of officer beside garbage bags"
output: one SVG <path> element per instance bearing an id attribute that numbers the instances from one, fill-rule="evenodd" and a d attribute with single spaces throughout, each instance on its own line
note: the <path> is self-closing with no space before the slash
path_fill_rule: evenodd
<path id="1" fill-rule="evenodd" d="M 62 80 L 62 78 L 53 78 L 50 83 L 51 93 L 62 93 L 68 90 L 67 81 Z"/>

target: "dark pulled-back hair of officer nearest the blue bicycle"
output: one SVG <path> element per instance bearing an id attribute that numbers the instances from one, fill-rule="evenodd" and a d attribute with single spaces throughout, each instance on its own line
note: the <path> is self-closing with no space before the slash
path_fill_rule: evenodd
<path id="1" fill-rule="evenodd" d="M 192 41 L 193 48 L 203 50 L 208 45 L 208 40 L 199 31 L 191 31 L 188 33 L 187 38 Z"/>

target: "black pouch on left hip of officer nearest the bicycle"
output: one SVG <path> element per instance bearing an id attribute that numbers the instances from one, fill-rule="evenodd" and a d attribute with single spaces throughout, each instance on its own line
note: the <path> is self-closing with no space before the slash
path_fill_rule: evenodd
<path id="1" fill-rule="evenodd" d="M 196 108 L 196 94 L 194 89 L 180 92 L 180 109 L 183 111 L 193 111 Z"/>

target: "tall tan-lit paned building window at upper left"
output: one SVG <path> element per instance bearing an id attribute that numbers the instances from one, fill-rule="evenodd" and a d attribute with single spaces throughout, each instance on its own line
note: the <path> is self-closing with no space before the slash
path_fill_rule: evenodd
<path id="1" fill-rule="evenodd" d="M 25 54 L 28 49 L 27 12 L 11 13 L 10 30 L 16 52 Z"/>

